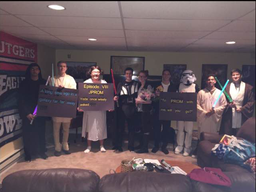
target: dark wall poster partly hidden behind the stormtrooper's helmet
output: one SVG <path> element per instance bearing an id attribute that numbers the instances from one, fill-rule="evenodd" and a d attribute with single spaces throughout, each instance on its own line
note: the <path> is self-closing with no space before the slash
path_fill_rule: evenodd
<path id="1" fill-rule="evenodd" d="M 169 69 L 171 72 L 171 82 L 173 84 L 179 84 L 181 74 L 187 69 L 186 64 L 163 64 L 163 69 Z"/>

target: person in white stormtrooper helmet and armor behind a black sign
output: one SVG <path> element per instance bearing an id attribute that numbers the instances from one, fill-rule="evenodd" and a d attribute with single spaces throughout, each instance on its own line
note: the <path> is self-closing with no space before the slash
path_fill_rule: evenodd
<path id="1" fill-rule="evenodd" d="M 196 92 L 196 77 L 193 71 L 185 70 L 183 71 L 179 84 L 179 92 Z M 177 144 L 175 148 L 175 154 L 180 154 L 183 151 L 183 156 L 189 156 L 191 151 L 192 133 L 193 133 L 193 122 L 191 121 L 177 121 Z M 186 134 L 185 134 L 185 132 Z M 185 137 L 185 140 L 184 140 Z"/>

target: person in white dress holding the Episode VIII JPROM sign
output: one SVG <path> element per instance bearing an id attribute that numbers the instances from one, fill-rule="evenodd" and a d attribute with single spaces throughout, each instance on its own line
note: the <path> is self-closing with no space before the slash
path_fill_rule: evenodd
<path id="1" fill-rule="evenodd" d="M 99 66 L 92 66 L 88 72 L 91 78 L 87 79 L 84 83 L 107 83 L 105 80 L 100 79 L 100 75 L 103 71 Z M 107 138 L 107 124 L 106 124 L 106 111 L 83 111 L 79 109 L 79 112 L 84 112 L 83 125 L 82 125 L 82 137 L 87 137 L 87 149 L 85 153 L 91 151 L 91 142 L 99 140 L 101 152 L 106 152 L 103 142 Z"/>

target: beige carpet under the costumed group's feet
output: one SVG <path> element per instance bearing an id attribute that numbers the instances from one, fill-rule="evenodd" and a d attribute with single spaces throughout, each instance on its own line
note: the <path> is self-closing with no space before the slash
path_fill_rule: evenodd
<path id="1" fill-rule="evenodd" d="M 80 135 L 81 136 L 81 135 Z M 131 160 L 135 158 L 148 158 L 148 159 L 165 159 L 165 160 L 178 160 L 183 162 L 190 162 L 196 164 L 196 159 L 189 157 L 183 157 L 182 154 L 176 155 L 173 153 L 172 144 L 169 144 L 167 149 L 169 149 L 169 154 L 165 155 L 163 152 L 158 151 L 157 153 L 152 153 L 151 148 L 153 148 L 153 141 L 149 143 L 150 152 L 147 154 L 136 154 L 127 150 L 127 142 L 125 141 L 123 145 L 124 152 L 115 153 L 112 150 L 111 139 L 105 140 L 105 148 L 107 152 L 103 153 L 99 151 L 99 142 L 93 142 L 92 150 L 88 154 L 84 153 L 86 149 L 86 140 L 81 141 L 81 138 L 77 139 L 77 143 L 74 143 L 73 140 L 75 134 L 70 134 L 70 150 L 71 154 L 66 155 L 62 152 L 62 155 L 59 157 L 54 156 L 54 148 L 48 148 L 46 154 L 49 156 L 47 160 L 41 158 L 32 159 L 31 162 L 24 162 L 24 157 L 20 159 L 18 163 L 14 166 L 11 166 L 6 170 L 1 178 L 3 178 L 12 172 L 19 170 L 28 170 L 28 169 L 49 169 L 49 168 L 80 168 L 88 169 L 96 172 L 100 177 L 103 177 L 106 174 L 109 174 L 110 169 L 115 170 L 121 163 L 122 160 L 127 159 Z M 53 142 L 52 142 L 53 143 Z M 52 144 L 50 143 L 50 144 Z M 137 142 L 135 142 L 138 144 Z M 49 145 L 49 143 L 48 143 Z M 193 140 L 192 148 L 195 148 L 196 141 Z M 112 173 L 112 172 L 111 172 Z"/>

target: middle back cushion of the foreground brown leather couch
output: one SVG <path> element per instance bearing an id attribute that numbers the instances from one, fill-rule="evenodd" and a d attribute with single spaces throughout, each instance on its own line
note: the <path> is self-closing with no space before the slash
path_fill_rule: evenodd
<path id="1" fill-rule="evenodd" d="M 191 191 L 189 177 L 182 174 L 134 171 L 101 178 L 99 191 Z"/>

